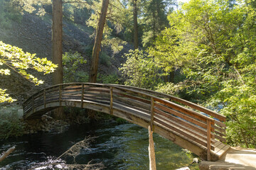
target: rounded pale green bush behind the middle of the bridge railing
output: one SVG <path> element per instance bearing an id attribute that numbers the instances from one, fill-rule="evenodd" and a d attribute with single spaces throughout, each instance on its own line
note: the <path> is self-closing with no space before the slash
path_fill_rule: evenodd
<path id="1" fill-rule="evenodd" d="M 153 89 L 162 82 L 161 69 L 156 65 L 154 57 L 149 57 L 141 50 L 130 50 L 125 57 L 127 61 L 119 70 L 124 75 L 126 85 Z"/>

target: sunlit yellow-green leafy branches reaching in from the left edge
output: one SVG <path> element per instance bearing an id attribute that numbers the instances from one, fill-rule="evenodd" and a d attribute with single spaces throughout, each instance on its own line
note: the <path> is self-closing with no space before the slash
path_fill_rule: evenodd
<path id="1" fill-rule="evenodd" d="M 4 68 L 6 67 L 6 68 Z M 35 69 L 38 72 L 49 74 L 54 72 L 57 65 L 48 61 L 46 58 L 40 59 L 35 54 L 23 52 L 20 48 L 7 45 L 0 41 L 0 74 L 11 74 L 10 69 L 21 74 L 22 77 L 28 79 L 36 85 L 43 84 L 41 79 L 37 79 L 32 74 L 26 72 L 27 69 Z M 12 102 L 14 99 L 5 94 L 6 89 L 0 89 L 0 103 L 4 101 Z"/>

